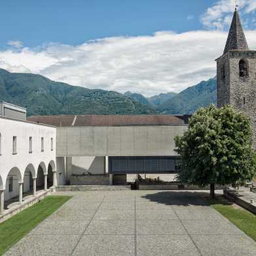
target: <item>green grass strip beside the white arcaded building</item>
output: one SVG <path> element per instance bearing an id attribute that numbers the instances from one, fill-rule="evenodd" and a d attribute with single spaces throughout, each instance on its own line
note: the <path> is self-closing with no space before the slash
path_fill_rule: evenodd
<path id="1" fill-rule="evenodd" d="M 0 255 L 69 199 L 71 197 L 48 196 L 0 223 Z"/>

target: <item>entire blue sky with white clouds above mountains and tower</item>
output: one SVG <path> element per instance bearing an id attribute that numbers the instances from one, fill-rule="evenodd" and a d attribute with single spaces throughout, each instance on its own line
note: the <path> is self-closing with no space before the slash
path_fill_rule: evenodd
<path id="1" fill-rule="evenodd" d="M 256 0 L 237 0 L 256 50 Z M 216 75 L 235 0 L 1 0 L 0 68 L 152 96 Z"/>

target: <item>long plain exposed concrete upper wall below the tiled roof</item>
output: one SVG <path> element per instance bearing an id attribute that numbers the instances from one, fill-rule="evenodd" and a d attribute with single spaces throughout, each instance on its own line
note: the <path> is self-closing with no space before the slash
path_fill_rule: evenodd
<path id="1" fill-rule="evenodd" d="M 187 125 L 58 127 L 57 156 L 177 155 L 174 136 Z"/>

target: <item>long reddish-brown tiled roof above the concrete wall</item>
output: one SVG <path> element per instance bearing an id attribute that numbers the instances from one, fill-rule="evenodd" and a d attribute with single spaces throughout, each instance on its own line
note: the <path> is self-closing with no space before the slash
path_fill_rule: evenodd
<path id="1" fill-rule="evenodd" d="M 188 116 L 138 115 L 138 116 L 31 116 L 28 121 L 54 126 L 129 126 L 129 125 L 184 125 Z"/>

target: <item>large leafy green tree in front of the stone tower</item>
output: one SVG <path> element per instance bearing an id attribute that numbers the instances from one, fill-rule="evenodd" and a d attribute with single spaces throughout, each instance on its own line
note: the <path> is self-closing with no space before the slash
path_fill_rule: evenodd
<path id="1" fill-rule="evenodd" d="M 215 184 L 251 180 L 256 172 L 248 117 L 231 106 L 200 108 L 189 120 L 183 136 L 176 136 L 182 157 L 180 182 L 206 186 L 214 197 Z"/>

